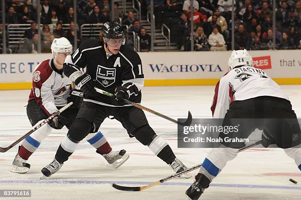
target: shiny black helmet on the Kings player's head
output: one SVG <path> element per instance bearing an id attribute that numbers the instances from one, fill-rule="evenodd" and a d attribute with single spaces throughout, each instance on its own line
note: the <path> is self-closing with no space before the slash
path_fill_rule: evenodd
<path id="1" fill-rule="evenodd" d="M 125 31 L 122 29 L 120 23 L 115 20 L 114 22 L 106 22 L 102 25 L 100 33 L 106 38 L 123 38 Z"/>

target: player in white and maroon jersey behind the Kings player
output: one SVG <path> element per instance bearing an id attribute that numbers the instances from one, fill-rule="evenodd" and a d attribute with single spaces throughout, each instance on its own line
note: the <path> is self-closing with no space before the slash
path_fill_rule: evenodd
<path id="1" fill-rule="evenodd" d="M 30 155 L 48 137 L 53 128 L 61 129 L 66 126 L 69 129 L 79 111 L 79 106 L 83 102 L 83 92 L 72 89 L 72 81 L 63 74 L 62 70 L 65 58 L 72 52 L 72 45 L 64 37 L 56 38 L 51 45 L 51 50 L 53 58 L 42 61 L 33 72 L 32 88 L 27 105 L 27 115 L 30 123 L 35 126 L 67 103 L 72 101 L 73 105 L 25 138 L 13 160 L 12 172 L 26 173 L 30 169 L 30 164 L 27 163 Z M 128 154 L 125 154 L 124 149 L 112 151 L 106 138 L 101 132 L 97 132 L 98 128 L 99 126 L 93 127 L 86 140 L 96 148 L 96 152 L 101 154 L 109 164 L 112 164 L 115 168 L 119 167 L 127 160 Z M 66 138 L 61 142 L 62 146 L 67 151 L 72 151 L 64 145 L 65 140 Z"/>

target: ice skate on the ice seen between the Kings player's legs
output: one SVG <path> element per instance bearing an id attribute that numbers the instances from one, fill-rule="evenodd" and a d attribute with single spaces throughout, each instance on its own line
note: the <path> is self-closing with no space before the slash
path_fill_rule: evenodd
<path id="1" fill-rule="evenodd" d="M 111 151 L 110 153 L 102 154 L 102 156 L 115 169 L 119 168 L 129 158 L 129 154 L 124 149 Z"/>

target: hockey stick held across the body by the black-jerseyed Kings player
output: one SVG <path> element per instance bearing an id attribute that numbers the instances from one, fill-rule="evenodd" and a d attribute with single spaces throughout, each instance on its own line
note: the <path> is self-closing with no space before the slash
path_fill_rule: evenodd
<path id="1" fill-rule="evenodd" d="M 102 89 L 99 89 L 99 88 L 97 88 L 97 87 L 94 87 L 94 89 L 95 89 L 97 92 L 101 93 L 101 94 L 104 94 L 104 95 L 107 95 L 107 96 L 110 96 L 110 97 L 113 96 L 113 94 L 111 94 L 110 92 L 106 92 L 106 91 L 104 91 L 104 90 L 102 90 Z M 192 122 L 192 116 L 191 116 L 190 111 L 188 111 L 188 117 L 187 117 L 186 121 L 185 121 L 185 122 L 180 122 L 180 121 L 177 121 L 177 120 L 175 120 L 175 119 L 173 119 L 173 118 L 170 118 L 170 117 L 168 117 L 168 116 L 165 116 L 164 114 L 160 114 L 160 113 L 158 113 L 158 112 L 155 112 L 155 111 L 153 111 L 153 110 L 151 110 L 151 109 L 149 109 L 149 108 L 147 108 L 147 107 L 144 107 L 144 106 L 141 106 L 141 105 L 136 104 L 136 103 L 134 103 L 134 102 L 131 102 L 131 101 L 127 100 L 127 99 L 123 99 L 123 101 L 124 101 L 125 103 L 127 103 L 127 104 L 131 104 L 132 106 L 134 106 L 134 107 L 136 107 L 136 108 L 139 108 L 139 109 L 141 109 L 141 110 L 147 111 L 147 112 L 149 112 L 149 113 L 151 113 L 151 114 L 158 115 L 158 116 L 160 116 L 160 117 L 163 117 L 164 119 L 167 119 L 167 120 L 169 120 L 169 121 L 175 122 L 175 123 L 180 124 L 180 125 L 182 125 L 182 126 L 189 126 L 189 125 L 191 124 L 191 122 Z"/>

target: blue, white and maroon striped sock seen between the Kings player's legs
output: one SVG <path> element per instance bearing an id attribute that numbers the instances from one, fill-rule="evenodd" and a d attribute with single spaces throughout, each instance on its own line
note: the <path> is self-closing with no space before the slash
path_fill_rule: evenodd
<path id="1" fill-rule="evenodd" d="M 90 133 L 86 140 L 90 143 L 94 148 L 96 148 L 96 152 L 99 154 L 107 154 L 112 151 L 110 144 L 108 143 L 107 139 L 104 135 L 98 131 L 98 133 Z"/>

